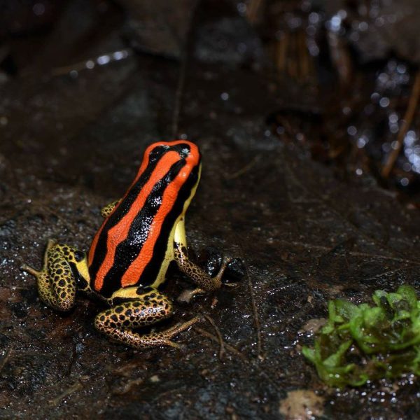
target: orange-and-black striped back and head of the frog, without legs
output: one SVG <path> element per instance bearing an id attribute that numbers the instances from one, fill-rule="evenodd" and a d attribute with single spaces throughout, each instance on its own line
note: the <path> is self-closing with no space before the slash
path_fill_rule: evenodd
<path id="1" fill-rule="evenodd" d="M 200 152 L 190 141 L 148 146 L 139 172 L 104 220 L 90 247 L 91 286 L 105 297 L 165 275 L 172 232 L 199 178 Z"/>

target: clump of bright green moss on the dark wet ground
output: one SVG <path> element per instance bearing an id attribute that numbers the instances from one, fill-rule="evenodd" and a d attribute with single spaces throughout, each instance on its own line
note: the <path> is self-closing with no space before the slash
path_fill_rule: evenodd
<path id="1" fill-rule="evenodd" d="M 420 301 L 411 286 L 376 290 L 374 305 L 328 302 L 328 322 L 303 355 L 329 386 L 420 374 Z"/>

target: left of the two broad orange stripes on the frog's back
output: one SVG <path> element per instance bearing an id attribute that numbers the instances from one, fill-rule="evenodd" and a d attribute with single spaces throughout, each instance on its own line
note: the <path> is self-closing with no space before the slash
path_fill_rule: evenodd
<path id="1" fill-rule="evenodd" d="M 146 153 L 148 153 L 149 149 L 154 148 L 158 145 L 159 144 L 153 144 L 149 146 L 146 149 Z M 146 202 L 148 195 L 151 194 L 153 187 L 160 179 L 162 179 L 167 174 L 169 168 L 175 162 L 178 162 L 178 161 L 179 161 L 179 153 L 175 151 L 169 151 L 165 153 L 165 155 L 163 155 L 162 158 L 160 158 L 160 161 L 158 162 L 158 165 L 156 165 L 155 169 L 153 170 L 150 179 L 148 179 L 144 187 L 141 189 L 139 196 L 133 202 L 132 207 L 130 208 L 128 213 L 116 225 L 114 225 L 113 228 L 109 230 L 108 235 L 107 235 L 107 240 L 106 240 L 106 250 L 107 250 L 106 257 L 104 261 L 102 262 L 101 267 L 99 267 L 97 276 L 94 279 L 95 290 L 101 290 L 104 284 L 105 276 L 113 265 L 114 258 L 116 255 L 116 248 L 118 244 L 120 244 L 121 242 L 125 241 L 125 239 L 127 239 L 130 226 L 132 225 L 132 222 L 134 221 L 134 218 L 136 218 L 139 211 L 144 207 L 144 203 Z M 141 169 L 142 168 L 143 168 L 143 171 L 144 171 L 144 168 L 146 168 L 146 165 L 144 165 L 144 162 L 141 165 Z M 140 174 L 142 173 L 141 169 L 139 170 Z M 139 176 L 136 177 L 136 180 L 138 178 Z M 163 203 L 165 203 L 166 193 L 167 191 L 165 190 L 164 200 L 162 202 L 162 205 Z M 151 227 L 151 230 L 152 228 L 153 226 Z M 141 254 L 142 253 L 140 253 L 140 255 Z M 137 279 L 139 279 L 139 272 L 137 272 Z"/>

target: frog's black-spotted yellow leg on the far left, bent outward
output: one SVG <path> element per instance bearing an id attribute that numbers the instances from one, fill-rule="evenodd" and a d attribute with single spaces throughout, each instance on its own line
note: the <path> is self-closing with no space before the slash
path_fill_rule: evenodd
<path id="1" fill-rule="evenodd" d="M 23 265 L 22 269 L 36 276 L 41 300 L 58 311 L 68 311 L 76 297 L 76 279 L 71 270 L 71 262 L 82 260 L 83 253 L 64 244 L 48 241 L 41 271 Z"/>

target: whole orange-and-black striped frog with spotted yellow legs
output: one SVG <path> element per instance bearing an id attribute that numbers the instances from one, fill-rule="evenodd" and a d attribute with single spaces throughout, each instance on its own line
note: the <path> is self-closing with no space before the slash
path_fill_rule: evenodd
<path id="1" fill-rule="evenodd" d="M 168 318 L 172 303 L 158 287 L 169 263 L 193 280 L 193 293 L 220 288 L 230 262 L 223 259 L 211 277 L 188 259 L 185 214 L 201 174 L 200 151 L 186 140 L 159 141 L 146 148 L 137 176 L 122 199 L 102 209 L 104 223 L 87 255 L 73 246 L 48 241 L 43 269 L 22 269 L 36 276 L 43 302 L 68 311 L 76 290 L 95 295 L 109 305 L 94 325 L 113 340 L 138 349 L 167 345 L 199 321 L 196 316 L 161 332 L 136 330 Z"/>

